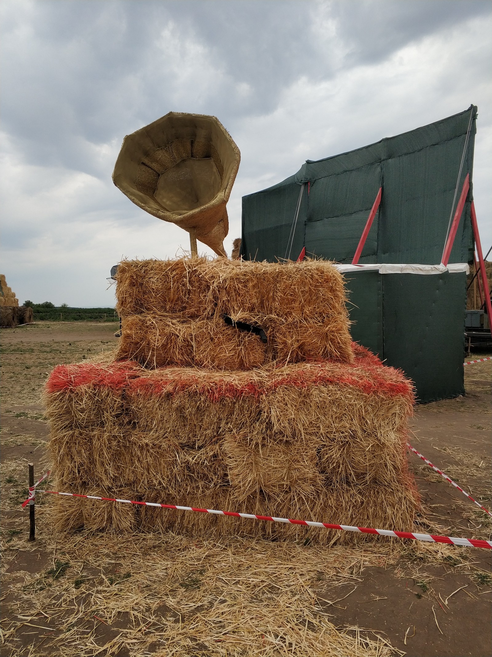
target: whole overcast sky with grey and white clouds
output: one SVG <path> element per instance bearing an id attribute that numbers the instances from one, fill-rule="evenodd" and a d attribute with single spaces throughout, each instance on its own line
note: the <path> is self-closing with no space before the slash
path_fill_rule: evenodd
<path id="1" fill-rule="evenodd" d="M 473 102 L 492 243 L 489 0 L 3 0 L 0 12 L 1 271 L 21 302 L 112 306 L 111 265 L 189 248 L 111 181 L 124 135 L 170 110 L 214 114 L 241 150 L 230 252 L 243 194 Z"/>

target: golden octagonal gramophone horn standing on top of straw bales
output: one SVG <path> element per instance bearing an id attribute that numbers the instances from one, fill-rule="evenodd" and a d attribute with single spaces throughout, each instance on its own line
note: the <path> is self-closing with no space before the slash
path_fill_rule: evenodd
<path id="1" fill-rule="evenodd" d="M 169 112 L 125 137 L 112 179 L 139 208 L 188 231 L 192 256 L 197 239 L 226 256 L 226 203 L 239 160 L 214 116 Z"/>

